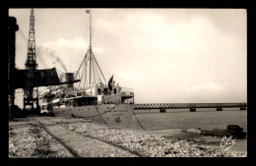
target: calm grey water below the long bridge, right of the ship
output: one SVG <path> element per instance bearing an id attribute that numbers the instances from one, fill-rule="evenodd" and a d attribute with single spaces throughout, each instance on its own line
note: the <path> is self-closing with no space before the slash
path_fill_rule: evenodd
<path id="1" fill-rule="evenodd" d="M 135 114 L 147 131 L 198 128 L 225 130 L 227 125 L 239 125 L 247 132 L 247 110 L 239 108 L 224 108 L 223 111 L 201 108 L 197 112 L 189 112 L 189 109 L 168 109 L 165 113 L 152 109 L 135 110 Z M 142 129 L 135 116 L 129 128 Z"/>

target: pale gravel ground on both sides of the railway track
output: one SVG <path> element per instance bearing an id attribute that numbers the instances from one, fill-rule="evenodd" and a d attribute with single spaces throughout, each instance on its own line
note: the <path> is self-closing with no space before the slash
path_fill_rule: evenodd
<path id="1" fill-rule="evenodd" d="M 142 157 L 246 157 L 247 152 L 220 149 L 178 138 L 151 135 L 145 131 L 111 128 L 82 119 L 49 118 L 83 136 L 97 138 Z M 36 122 L 9 123 L 10 157 L 72 157 Z M 112 154 L 115 157 L 115 154 Z M 123 156 L 128 157 L 128 156 Z"/>

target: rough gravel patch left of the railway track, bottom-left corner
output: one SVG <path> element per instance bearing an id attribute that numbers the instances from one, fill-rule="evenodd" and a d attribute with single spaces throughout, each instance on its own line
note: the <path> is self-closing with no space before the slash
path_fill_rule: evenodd
<path id="1" fill-rule="evenodd" d="M 58 141 L 51 138 L 38 122 L 9 124 L 9 157 L 73 157 Z"/>

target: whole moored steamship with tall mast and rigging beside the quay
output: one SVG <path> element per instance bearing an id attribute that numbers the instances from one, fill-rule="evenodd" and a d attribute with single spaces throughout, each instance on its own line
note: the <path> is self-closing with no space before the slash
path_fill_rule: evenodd
<path id="1" fill-rule="evenodd" d="M 134 91 L 115 83 L 112 75 L 106 82 L 96 61 L 92 47 L 92 11 L 90 16 L 90 44 L 79 69 L 62 73 L 61 82 L 81 78 L 74 83 L 49 86 L 39 97 L 41 113 L 55 117 L 77 117 L 115 127 L 128 127 L 134 113 Z"/>

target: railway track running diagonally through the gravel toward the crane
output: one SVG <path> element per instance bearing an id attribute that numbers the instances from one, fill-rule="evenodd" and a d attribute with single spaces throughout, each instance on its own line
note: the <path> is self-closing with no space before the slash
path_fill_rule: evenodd
<path id="1" fill-rule="evenodd" d="M 140 153 L 100 138 L 85 136 L 47 117 L 35 118 L 42 129 L 65 147 L 73 157 L 142 157 Z"/>

